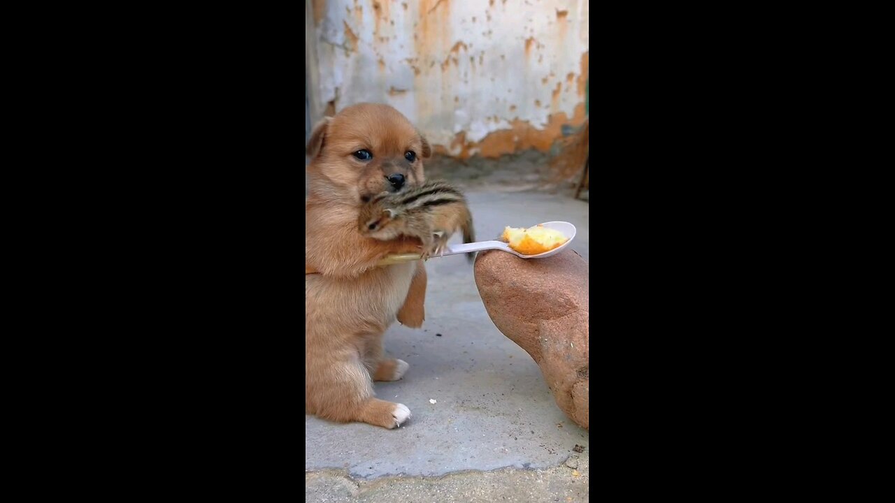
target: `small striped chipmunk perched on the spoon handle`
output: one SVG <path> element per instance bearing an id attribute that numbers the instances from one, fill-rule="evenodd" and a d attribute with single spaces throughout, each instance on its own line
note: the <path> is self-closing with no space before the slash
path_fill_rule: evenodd
<path id="1" fill-rule="evenodd" d="M 473 243 L 473 215 L 462 192 L 444 182 L 423 183 L 405 192 L 381 192 L 362 207 L 361 234 L 379 240 L 399 235 L 422 240 L 422 259 L 444 250 L 447 240 L 463 229 L 463 242 Z M 467 254 L 473 260 L 473 253 Z"/>

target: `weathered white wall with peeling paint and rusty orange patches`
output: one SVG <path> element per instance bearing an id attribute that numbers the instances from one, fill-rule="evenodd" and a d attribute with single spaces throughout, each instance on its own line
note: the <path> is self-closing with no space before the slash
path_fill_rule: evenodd
<path id="1" fill-rule="evenodd" d="M 313 0 L 319 89 L 333 112 L 388 103 L 436 151 L 547 151 L 584 122 L 587 0 Z M 306 23 L 307 24 L 307 23 Z"/>

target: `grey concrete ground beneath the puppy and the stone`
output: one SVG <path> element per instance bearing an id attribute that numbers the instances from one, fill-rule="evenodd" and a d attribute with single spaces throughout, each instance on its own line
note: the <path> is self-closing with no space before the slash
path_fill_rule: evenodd
<path id="1" fill-rule="evenodd" d="M 487 176 L 463 186 L 478 240 L 504 226 L 566 220 L 577 227 L 571 248 L 589 260 L 589 204 L 572 191 L 516 192 L 530 187 L 496 186 Z M 376 383 L 377 396 L 412 416 L 389 431 L 306 415 L 305 500 L 588 499 L 588 431 L 559 411 L 532 358 L 491 322 L 473 266 L 456 255 L 430 259 L 426 269 L 423 327 L 396 323 L 385 339 L 410 369 Z"/>

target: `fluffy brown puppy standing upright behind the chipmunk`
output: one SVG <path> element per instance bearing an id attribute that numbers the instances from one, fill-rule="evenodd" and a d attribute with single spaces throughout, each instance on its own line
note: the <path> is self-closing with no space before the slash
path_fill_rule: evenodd
<path id="1" fill-rule="evenodd" d="M 311 195 L 304 203 L 304 410 L 338 422 L 395 428 L 403 404 L 373 397 L 373 380 L 401 379 L 402 360 L 385 358 L 382 334 L 396 319 L 424 318 L 422 260 L 377 268 L 391 253 L 421 252 L 419 239 L 380 241 L 358 232 L 362 204 L 379 192 L 422 184 L 429 143 L 386 105 L 347 107 L 311 133 Z"/>

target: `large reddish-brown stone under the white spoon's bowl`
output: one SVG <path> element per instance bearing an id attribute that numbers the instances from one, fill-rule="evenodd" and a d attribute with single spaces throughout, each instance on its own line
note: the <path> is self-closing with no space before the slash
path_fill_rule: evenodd
<path id="1" fill-rule="evenodd" d="M 475 285 L 494 325 L 530 354 L 559 409 L 589 430 L 589 280 L 573 250 L 546 259 L 480 252 Z"/>

